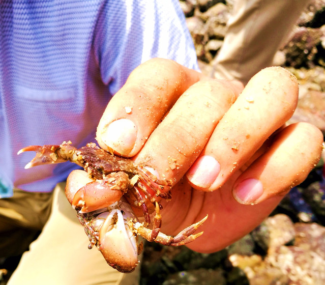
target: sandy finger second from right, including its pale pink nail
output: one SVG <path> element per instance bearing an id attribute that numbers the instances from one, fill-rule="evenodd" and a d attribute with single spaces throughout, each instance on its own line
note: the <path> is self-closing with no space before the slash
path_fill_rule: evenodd
<path id="1" fill-rule="evenodd" d="M 187 173 L 192 186 L 213 191 L 223 185 L 292 116 L 297 101 L 298 82 L 290 72 L 271 67 L 257 73 Z"/>

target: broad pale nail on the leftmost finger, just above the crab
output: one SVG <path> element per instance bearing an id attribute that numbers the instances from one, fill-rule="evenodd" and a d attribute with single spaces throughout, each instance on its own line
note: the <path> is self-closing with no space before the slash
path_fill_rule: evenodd
<path id="1" fill-rule="evenodd" d="M 101 134 L 103 143 L 122 155 L 128 155 L 133 150 L 136 137 L 137 128 L 128 119 L 111 122 Z"/>

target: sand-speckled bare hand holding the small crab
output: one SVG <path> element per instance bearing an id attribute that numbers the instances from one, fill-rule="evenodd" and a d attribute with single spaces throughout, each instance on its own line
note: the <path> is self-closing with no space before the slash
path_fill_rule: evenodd
<path id="1" fill-rule="evenodd" d="M 97 140 L 172 182 L 165 234 L 209 214 L 188 247 L 214 252 L 253 230 L 318 162 L 322 133 L 284 125 L 297 101 L 297 80 L 282 68 L 260 71 L 244 88 L 153 59 L 109 102 Z"/>

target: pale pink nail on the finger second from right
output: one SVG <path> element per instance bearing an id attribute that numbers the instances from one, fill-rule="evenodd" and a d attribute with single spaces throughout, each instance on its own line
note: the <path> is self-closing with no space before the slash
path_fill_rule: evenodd
<path id="1" fill-rule="evenodd" d="M 219 162 L 210 155 L 202 155 L 194 162 L 186 176 L 192 184 L 209 188 L 217 179 L 219 172 Z"/>

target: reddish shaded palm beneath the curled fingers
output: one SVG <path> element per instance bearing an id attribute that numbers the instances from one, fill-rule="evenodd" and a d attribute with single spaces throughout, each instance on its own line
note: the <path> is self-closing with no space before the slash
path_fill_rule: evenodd
<path id="1" fill-rule="evenodd" d="M 208 214 L 198 229 L 203 235 L 187 246 L 199 252 L 214 252 L 252 231 L 272 212 L 281 197 L 254 206 L 239 204 L 231 194 L 235 176 L 213 192 L 195 190 L 182 179 L 173 187 L 171 201 L 163 204 L 162 232 L 176 234 Z"/>

